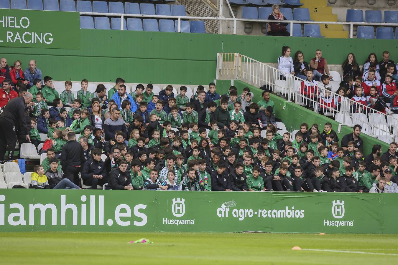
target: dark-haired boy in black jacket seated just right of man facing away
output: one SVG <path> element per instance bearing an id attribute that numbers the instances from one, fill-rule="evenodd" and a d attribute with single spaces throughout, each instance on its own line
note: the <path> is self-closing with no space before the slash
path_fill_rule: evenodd
<path id="1" fill-rule="evenodd" d="M 94 148 L 92 159 L 87 160 L 82 166 L 82 181 L 84 185 L 91 185 L 92 190 L 97 189 L 97 185 L 103 186 L 108 183 L 108 174 L 105 164 L 101 160 L 101 150 Z"/>

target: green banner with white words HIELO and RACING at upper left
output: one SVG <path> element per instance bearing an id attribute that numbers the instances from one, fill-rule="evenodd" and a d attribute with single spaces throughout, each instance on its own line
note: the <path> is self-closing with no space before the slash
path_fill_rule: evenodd
<path id="1" fill-rule="evenodd" d="M 80 48 L 78 12 L 0 9 L 0 46 Z"/>

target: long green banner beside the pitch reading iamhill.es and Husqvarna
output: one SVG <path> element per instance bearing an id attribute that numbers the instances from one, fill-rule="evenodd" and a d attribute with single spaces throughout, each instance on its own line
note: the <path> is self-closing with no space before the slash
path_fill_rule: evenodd
<path id="1" fill-rule="evenodd" d="M 0 231 L 398 234 L 398 194 L 1 190 Z"/>

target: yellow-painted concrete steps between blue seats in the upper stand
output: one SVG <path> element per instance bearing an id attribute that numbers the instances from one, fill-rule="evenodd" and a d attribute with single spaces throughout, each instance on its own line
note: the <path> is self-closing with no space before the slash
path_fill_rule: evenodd
<path id="1" fill-rule="evenodd" d="M 310 10 L 310 17 L 315 21 L 338 21 L 337 15 L 332 14 L 332 7 L 328 0 L 300 0 L 302 8 Z M 319 24 L 321 35 L 326 38 L 348 38 L 348 32 L 343 30 L 343 25 Z"/>

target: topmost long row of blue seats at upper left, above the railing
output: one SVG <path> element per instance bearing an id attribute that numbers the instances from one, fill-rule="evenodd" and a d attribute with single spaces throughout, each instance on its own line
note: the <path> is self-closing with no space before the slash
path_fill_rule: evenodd
<path id="1" fill-rule="evenodd" d="M 96 13 L 121 13 L 121 14 L 142 14 L 142 15 L 176 15 L 185 16 L 185 6 L 147 3 L 126 2 L 104 2 L 77 0 L 0 0 L 0 8 L 30 9 L 30 10 L 51 10 L 71 12 L 96 12 Z"/>

